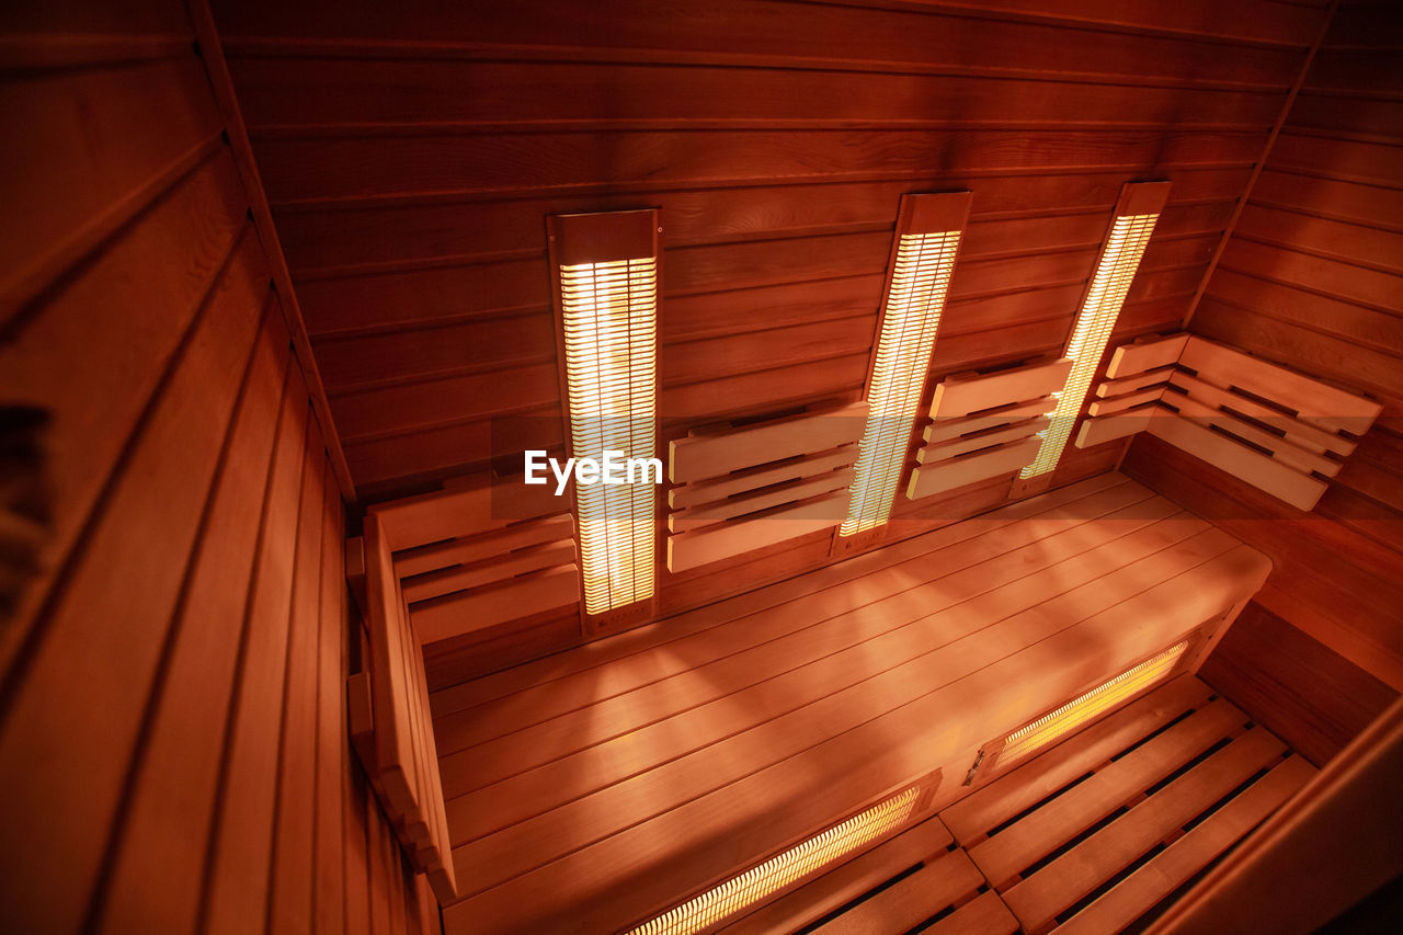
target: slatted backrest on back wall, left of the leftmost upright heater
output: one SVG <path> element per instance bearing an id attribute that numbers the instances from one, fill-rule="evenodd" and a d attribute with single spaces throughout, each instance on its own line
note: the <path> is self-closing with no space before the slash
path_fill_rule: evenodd
<path id="1" fill-rule="evenodd" d="M 572 498 L 554 489 L 481 473 L 370 508 L 424 643 L 579 601 Z"/>

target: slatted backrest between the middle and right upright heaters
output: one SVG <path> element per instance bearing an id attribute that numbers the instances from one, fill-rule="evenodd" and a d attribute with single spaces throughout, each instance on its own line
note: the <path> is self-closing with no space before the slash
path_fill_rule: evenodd
<path id="1" fill-rule="evenodd" d="M 993 373 L 957 373 L 936 386 L 926 444 L 916 451 L 906 496 L 953 490 L 1033 463 L 1072 361 L 1059 358 Z"/>

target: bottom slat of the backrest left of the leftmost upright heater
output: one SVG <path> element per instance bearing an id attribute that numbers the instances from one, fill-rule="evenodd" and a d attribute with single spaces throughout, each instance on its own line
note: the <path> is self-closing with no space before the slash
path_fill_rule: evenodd
<path id="1" fill-rule="evenodd" d="M 578 599 L 579 570 L 570 563 L 425 601 L 414 608 L 411 616 L 419 640 L 428 644 Z"/>

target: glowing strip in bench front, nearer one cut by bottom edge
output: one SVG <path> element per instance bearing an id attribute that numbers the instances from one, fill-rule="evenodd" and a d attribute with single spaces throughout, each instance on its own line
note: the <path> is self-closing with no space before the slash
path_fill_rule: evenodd
<path id="1" fill-rule="evenodd" d="M 919 795 L 920 788 L 911 786 L 741 876 L 644 922 L 630 935 L 685 935 L 704 931 L 897 828 L 911 817 Z"/>

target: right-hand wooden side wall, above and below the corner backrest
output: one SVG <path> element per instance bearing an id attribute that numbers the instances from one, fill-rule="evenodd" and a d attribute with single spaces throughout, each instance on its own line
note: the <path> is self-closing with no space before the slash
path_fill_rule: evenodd
<path id="1" fill-rule="evenodd" d="M 1188 326 L 1367 393 L 1383 403 L 1379 421 L 1312 514 L 1153 439 L 1138 438 L 1125 459 L 1131 476 L 1274 557 L 1244 615 L 1256 623 L 1218 649 L 1205 677 L 1316 762 L 1403 691 L 1396 13 L 1340 6 Z"/>

